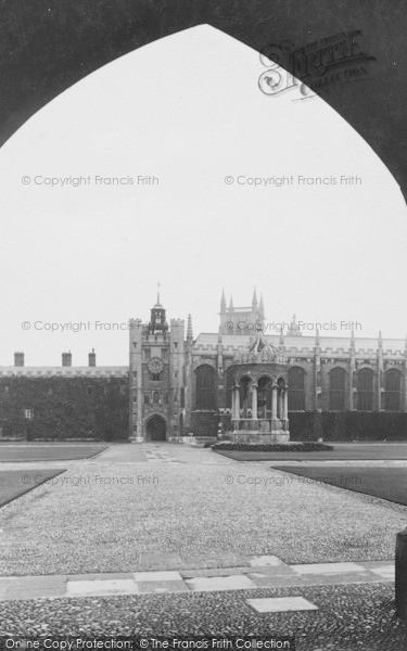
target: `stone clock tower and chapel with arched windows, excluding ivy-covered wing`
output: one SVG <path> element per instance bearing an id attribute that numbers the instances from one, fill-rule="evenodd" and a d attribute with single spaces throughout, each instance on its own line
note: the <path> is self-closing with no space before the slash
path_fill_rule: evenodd
<path id="1" fill-rule="evenodd" d="M 254 293 L 250 307 L 234 307 L 232 301 L 227 307 L 222 294 L 218 332 L 201 333 L 196 339 L 191 318 L 185 340 L 183 321 L 171 320 L 165 333 L 153 334 L 153 310 L 150 323 L 135 322 L 139 326 L 130 330 L 130 375 L 138 384 L 130 388 L 132 436 L 138 441 L 154 437 L 148 427 L 154 414 L 165 420 L 168 439 L 189 433 L 216 436 L 220 425 L 232 430 L 237 354 L 250 345 L 262 321 L 263 299 L 258 303 Z M 265 339 L 287 358 L 289 412 L 407 411 L 404 340 L 382 340 L 381 335 L 355 339 L 353 332 L 348 337 L 320 336 L 318 332 L 302 335 L 295 318 L 284 336 L 266 334 Z M 176 348 L 171 342 L 177 342 Z M 151 349 L 151 357 L 167 348 L 160 379 L 154 380 L 148 371 L 144 348 Z M 158 391 L 155 398 L 154 391 Z M 272 397 L 266 393 L 263 406 L 267 411 Z M 164 395 L 168 396 L 165 400 Z M 157 433 L 157 437 L 162 435 Z"/>

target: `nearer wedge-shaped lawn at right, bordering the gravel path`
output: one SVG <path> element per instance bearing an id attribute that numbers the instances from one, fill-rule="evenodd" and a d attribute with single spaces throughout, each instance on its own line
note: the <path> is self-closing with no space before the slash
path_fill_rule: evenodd
<path id="1" fill-rule="evenodd" d="M 297 475 L 303 485 L 323 482 L 407 506 L 407 468 L 279 465 L 278 470 Z"/>

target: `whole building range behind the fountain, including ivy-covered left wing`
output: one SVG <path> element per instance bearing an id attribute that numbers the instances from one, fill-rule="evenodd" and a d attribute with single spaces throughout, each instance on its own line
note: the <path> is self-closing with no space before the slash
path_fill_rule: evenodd
<path id="1" fill-rule="evenodd" d="M 194 339 L 191 318 L 168 322 L 158 296 L 148 322 L 129 321 L 128 367 L 97 367 L 94 352 L 88 367 L 73 367 L 71 353 L 61 367 L 25 367 L 18 352 L 0 367 L 0 436 L 141 442 L 230 431 L 233 366 L 262 322 L 256 294 L 243 308 L 222 295 L 218 332 Z M 287 359 L 290 422 L 290 413 L 407 412 L 404 340 L 302 335 L 294 318 L 284 336 L 266 330 L 265 341 Z M 270 387 L 259 386 L 257 405 L 268 418 Z"/>

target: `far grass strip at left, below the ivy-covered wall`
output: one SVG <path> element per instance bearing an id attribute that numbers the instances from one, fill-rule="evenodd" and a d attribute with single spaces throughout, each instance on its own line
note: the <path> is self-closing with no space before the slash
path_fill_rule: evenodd
<path id="1" fill-rule="evenodd" d="M 89 459 L 107 449 L 107 445 L 82 443 L 1 443 L 0 462 L 69 461 Z"/>

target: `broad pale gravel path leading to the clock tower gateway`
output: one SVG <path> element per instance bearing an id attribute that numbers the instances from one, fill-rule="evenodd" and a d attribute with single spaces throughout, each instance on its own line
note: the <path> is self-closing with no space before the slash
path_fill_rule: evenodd
<path id="1" fill-rule="evenodd" d="M 0 575 L 149 570 L 147 552 L 173 554 L 167 570 L 244 565 L 247 554 L 381 560 L 407 521 L 405 507 L 307 484 L 270 463 L 170 444 L 155 449 L 175 461 L 148 461 L 143 448 L 66 462 L 64 474 L 1 509 Z"/>

